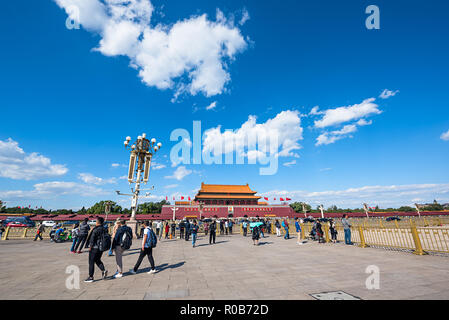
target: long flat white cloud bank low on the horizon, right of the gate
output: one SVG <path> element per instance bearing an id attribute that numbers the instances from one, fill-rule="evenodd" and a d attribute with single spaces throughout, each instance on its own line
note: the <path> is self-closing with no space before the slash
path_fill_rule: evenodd
<path id="1" fill-rule="evenodd" d="M 449 201 L 449 183 L 443 184 L 411 184 L 390 186 L 364 186 L 345 190 L 309 192 L 303 190 L 272 190 L 263 192 L 267 197 L 289 197 L 294 201 L 305 201 L 312 206 L 323 204 L 325 207 L 337 205 L 342 208 L 360 208 L 362 203 L 398 207 L 413 205 L 416 199 L 432 202 Z"/>

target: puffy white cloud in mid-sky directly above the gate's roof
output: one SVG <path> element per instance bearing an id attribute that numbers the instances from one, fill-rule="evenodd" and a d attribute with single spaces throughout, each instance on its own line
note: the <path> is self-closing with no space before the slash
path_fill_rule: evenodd
<path id="1" fill-rule="evenodd" d="M 257 157 L 264 152 L 272 152 L 268 143 L 270 138 L 278 137 L 278 149 L 274 150 L 279 157 L 299 157 L 294 151 L 301 149 L 298 141 L 302 140 L 303 128 L 298 111 L 286 110 L 264 123 L 257 123 L 256 116 L 249 116 L 239 129 L 221 132 L 221 126 L 204 132 L 203 152 L 213 152 L 214 155 L 233 153 L 236 150 L 248 148 L 248 137 L 259 142 L 257 150 L 249 150 L 244 155 Z M 255 141 L 257 141 L 255 140 Z"/>

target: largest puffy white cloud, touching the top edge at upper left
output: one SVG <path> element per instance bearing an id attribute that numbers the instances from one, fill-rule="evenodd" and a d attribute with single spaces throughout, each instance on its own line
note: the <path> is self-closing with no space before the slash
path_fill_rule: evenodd
<path id="1" fill-rule="evenodd" d="M 151 21 L 149 0 L 55 1 L 74 21 L 101 36 L 95 50 L 127 56 L 146 85 L 173 89 L 174 99 L 185 92 L 221 94 L 231 80 L 229 62 L 247 47 L 239 28 L 220 10 L 216 21 L 203 14 L 163 25 Z M 79 8 L 79 16 L 71 6 Z"/>

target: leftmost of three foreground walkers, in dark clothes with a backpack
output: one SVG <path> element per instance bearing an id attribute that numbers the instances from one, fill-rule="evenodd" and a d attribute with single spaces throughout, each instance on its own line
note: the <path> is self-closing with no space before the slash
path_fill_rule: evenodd
<path id="1" fill-rule="evenodd" d="M 89 277 L 84 280 L 84 282 L 94 281 L 95 264 L 101 270 L 102 279 L 105 279 L 108 275 L 108 271 L 101 261 L 101 256 L 104 251 L 108 251 L 111 247 L 111 236 L 104 229 L 103 223 L 104 219 L 102 217 L 98 217 L 95 227 L 86 239 L 87 247 L 89 247 Z"/>

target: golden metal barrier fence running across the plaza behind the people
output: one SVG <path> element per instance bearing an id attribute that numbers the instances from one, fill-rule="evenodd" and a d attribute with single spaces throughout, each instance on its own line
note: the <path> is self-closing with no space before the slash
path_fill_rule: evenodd
<path id="1" fill-rule="evenodd" d="M 376 221 L 377 220 L 377 221 Z M 350 219 L 351 224 L 351 242 L 358 246 L 364 247 L 382 247 L 390 249 L 410 250 L 415 254 L 423 255 L 427 252 L 434 253 L 449 253 L 449 227 L 447 222 L 449 218 L 411 218 L 401 221 L 392 221 L 387 224 L 381 219 Z M 401 223 L 399 223 L 401 222 Z M 312 223 L 301 224 L 301 239 L 310 238 L 312 231 Z M 112 234 L 113 226 L 109 226 L 109 232 Z M 153 226 L 155 230 L 155 226 Z M 329 232 L 329 224 L 322 223 L 323 229 L 323 241 L 330 242 L 331 235 Z M 344 228 L 339 220 L 336 220 L 337 241 L 344 241 Z M 46 228 L 42 237 L 49 239 L 49 233 L 51 228 Z M 285 235 L 284 228 L 280 228 L 281 235 Z M 140 233 L 140 226 L 138 228 L 138 234 Z M 249 235 L 250 229 L 248 224 L 247 234 Z M 2 240 L 7 239 L 34 239 L 36 236 L 37 228 L 11 228 L 7 227 L 2 234 Z M 70 230 L 69 230 L 70 232 Z M 276 234 L 276 228 L 274 221 L 271 223 L 270 230 L 265 232 Z M 205 235 L 204 225 L 200 226 L 199 233 Z M 296 228 L 294 222 L 289 223 L 289 233 L 292 237 L 296 237 Z M 171 234 L 171 229 L 169 231 Z M 228 232 L 228 234 L 230 234 Z M 240 223 L 234 224 L 232 228 L 232 234 L 243 234 L 243 226 Z M 216 236 L 220 237 L 226 235 L 226 232 L 221 233 L 219 225 L 217 225 Z M 163 232 L 165 237 L 165 230 Z M 176 229 L 172 238 L 180 238 L 180 230 Z"/>

